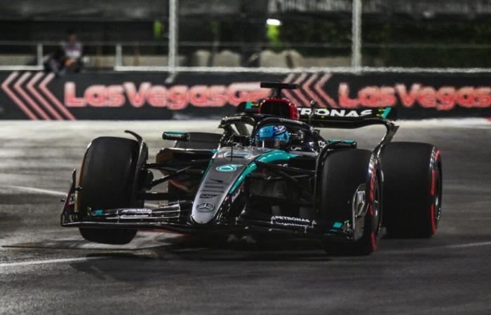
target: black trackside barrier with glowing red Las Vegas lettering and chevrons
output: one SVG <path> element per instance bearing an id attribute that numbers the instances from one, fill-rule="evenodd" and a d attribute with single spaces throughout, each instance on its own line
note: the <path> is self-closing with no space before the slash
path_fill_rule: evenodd
<path id="1" fill-rule="evenodd" d="M 311 99 L 334 109 L 395 106 L 406 119 L 491 117 L 491 73 L 484 71 L 0 72 L 0 118 L 150 120 L 216 118 L 267 97 L 260 81 L 297 83 L 285 90 L 298 106 Z M 179 114 L 179 115 L 176 115 Z"/>

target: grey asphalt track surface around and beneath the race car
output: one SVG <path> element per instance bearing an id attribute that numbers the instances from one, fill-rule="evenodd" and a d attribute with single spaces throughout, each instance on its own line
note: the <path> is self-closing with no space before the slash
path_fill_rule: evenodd
<path id="1" fill-rule="evenodd" d="M 162 130 L 216 125 L 0 122 L 0 314 L 491 314 L 491 124 L 480 120 L 400 124 L 396 140 L 442 151 L 443 218 L 432 239 L 385 238 L 368 257 L 293 241 L 210 248 L 159 233 L 120 249 L 58 224 L 57 192 L 90 139 L 131 129 L 154 154 Z M 330 136 L 361 147 L 380 137 L 353 134 Z"/>

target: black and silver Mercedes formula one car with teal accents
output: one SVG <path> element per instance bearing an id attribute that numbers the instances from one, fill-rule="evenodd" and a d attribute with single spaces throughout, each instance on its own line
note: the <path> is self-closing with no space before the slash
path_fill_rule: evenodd
<path id="1" fill-rule="evenodd" d="M 285 83 L 221 120 L 222 134 L 163 132 L 175 141 L 149 162 L 147 144 L 94 139 L 72 185 L 61 224 L 88 241 L 126 244 L 137 230 L 199 235 L 318 239 L 332 254 L 368 255 L 382 227 L 397 237 L 431 237 L 441 213 L 442 162 L 431 144 L 391 142 L 395 109 L 297 107 Z M 372 150 L 323 139 L 316 128 L 383 125 Z M 154 172 L 162 176 L 154 179 Z M 156 186 L 164 186 L 156 191 Z M 159 207 L 144 207 L 158 200 Z"/>

